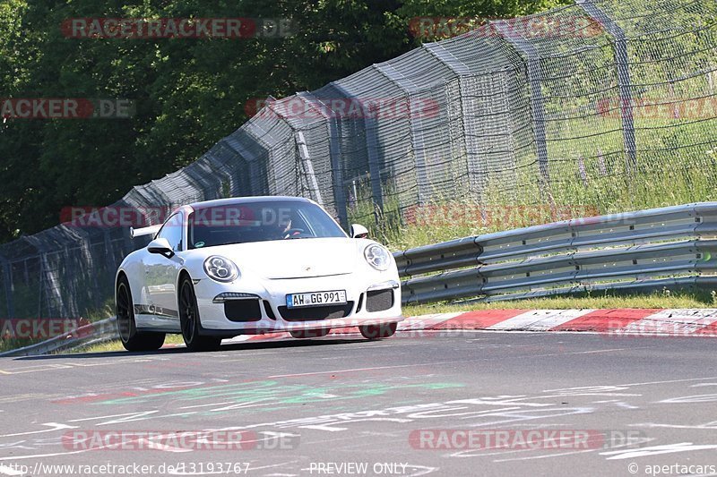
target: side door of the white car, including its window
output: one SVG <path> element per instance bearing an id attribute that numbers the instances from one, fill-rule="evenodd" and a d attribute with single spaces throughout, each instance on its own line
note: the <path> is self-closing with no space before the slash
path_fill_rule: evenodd
<path id="1" fill-rule="evenodd" d="M 181 211 L 169 217 L 156 238 L 167 239 L 175 254 L 167 257 L 160 253 L 145 255 L 145 284 L 150 298 L 151 328 L 179 329 L 177 311 L 177 277 L 182 268 L 185 217 Z"/>

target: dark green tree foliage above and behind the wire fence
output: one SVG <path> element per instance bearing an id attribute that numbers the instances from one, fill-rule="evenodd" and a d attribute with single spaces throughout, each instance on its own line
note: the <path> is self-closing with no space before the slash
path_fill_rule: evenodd
<path id="1" fill-rule="evenodd" d="M 3 0 L 0 98 L 129 98 L 130 119 L 0 124 L 0 242 L 198 158 L 252 98 L 316 89 L 418 45 L 417 16 L 512 17 L 563 0 Z M 63 21 L 289 18 L 286 38 L 65 38 Z"/>

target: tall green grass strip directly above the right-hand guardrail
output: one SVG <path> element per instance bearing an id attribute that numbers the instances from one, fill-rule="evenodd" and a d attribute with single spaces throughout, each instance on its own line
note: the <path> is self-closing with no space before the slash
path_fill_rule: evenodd
<path id="1" fill-rule="evenodd" d="M 717 128 L 712 133 L 717 137 Z M 551 184 L 542 192 L 535 175 L 525 171 L 517 179 L 519 192 L 508 194 L 494 180 L 486 184 L 482 202 L 436 194 L 428 204 L 400 206 L 399 194 L 386 187 L 383 209 L 375 211 L 370 198 L 359 200 L 349 210 L 350 222 L 367 226 L 373 238 L 400 251 L 567 218 L 717 200 L 717 150 L 692 151 L 688 158 L 665 163 L 645 159 L 630 172 L 611 171 L 618 166 L 608 164 L 606 175 L 600 166 L 584 162 L 584 181 L 568 160 L 551 173 Z"/>

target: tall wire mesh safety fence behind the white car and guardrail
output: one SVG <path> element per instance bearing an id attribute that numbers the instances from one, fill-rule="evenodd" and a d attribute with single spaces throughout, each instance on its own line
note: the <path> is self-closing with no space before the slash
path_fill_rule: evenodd
<path id="1" fill-rule="evenodd" d="M 192 165 L 111 207 L 301 195 L 346 226 L 445 201 L 609 212 L 651 186 L 666 202 L 679 187 L 675 203 L 704 200 L 689 195 L 717 179 L 715 16 L 704 0 L 577 0 L 489 21 L 269 98 Z M 145 243 L 126 227 L 65 224 L 0 246 L 0 316 L 97 309 Z"/>

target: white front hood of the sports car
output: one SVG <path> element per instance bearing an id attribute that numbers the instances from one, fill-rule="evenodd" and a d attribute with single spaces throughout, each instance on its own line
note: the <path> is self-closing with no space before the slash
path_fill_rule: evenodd
<path id="1" fill-rule="evenodd" d="M 242 270 L 270 279 L 327 277 L 356 269 L 358 241 L 350 238 L 316 238 L 237 243 L 203 249 L 222 255 Z"/>

